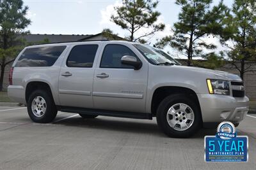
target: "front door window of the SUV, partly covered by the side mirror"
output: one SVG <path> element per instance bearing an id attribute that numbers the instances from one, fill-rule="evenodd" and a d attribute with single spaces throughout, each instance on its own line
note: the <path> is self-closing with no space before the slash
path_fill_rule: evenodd
<path id="1" fill-rule="evenodd" d="M 136 57 L 130 48 L 124 45 L 106 45 L 102 54 L 100 67 L 104 68 L 133 68 L 121 63 L 124 55 Z"/>

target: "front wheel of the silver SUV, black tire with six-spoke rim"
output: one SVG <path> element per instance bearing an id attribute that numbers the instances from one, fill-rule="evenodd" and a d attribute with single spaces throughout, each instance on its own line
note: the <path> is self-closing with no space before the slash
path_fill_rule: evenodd
<path id="1" fill-rule="evenodd" d="M 174 138 L 189 138 L 202 127 L 202 115 L 195 99 L 185 94 L 173 94 L 163 99 L 157 108 L 156 118 L 164 134 Z"/>

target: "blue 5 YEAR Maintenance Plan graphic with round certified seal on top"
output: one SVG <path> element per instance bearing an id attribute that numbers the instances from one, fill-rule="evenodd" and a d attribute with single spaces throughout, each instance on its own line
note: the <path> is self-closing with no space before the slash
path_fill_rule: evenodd
<path id="1" fill-rule="evenodd" d="M 206 162 L 247 162 L 248 136 L 237 136 L 231 122 L 221 122 L 216 136 L 205 136 Z"/>

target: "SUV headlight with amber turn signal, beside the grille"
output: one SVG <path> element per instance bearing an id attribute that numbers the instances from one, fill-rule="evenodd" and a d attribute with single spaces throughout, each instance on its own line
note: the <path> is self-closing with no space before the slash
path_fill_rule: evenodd
<path id="1" fill-rule="evenodd" d="M 230 95 L 228 81 L 207 79 L 207 86 L 210 94 Z"/>

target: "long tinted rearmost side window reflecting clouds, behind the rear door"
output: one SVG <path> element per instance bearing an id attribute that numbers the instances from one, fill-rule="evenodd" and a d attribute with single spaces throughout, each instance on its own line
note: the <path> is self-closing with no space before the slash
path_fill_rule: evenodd
<path id="1" fill-rule="evenodd" d="M 45 46 L 38 48 L 27 48 L 15 67 L 47 67 L 52 66 L 60 57 L 66 46 Z"/>

